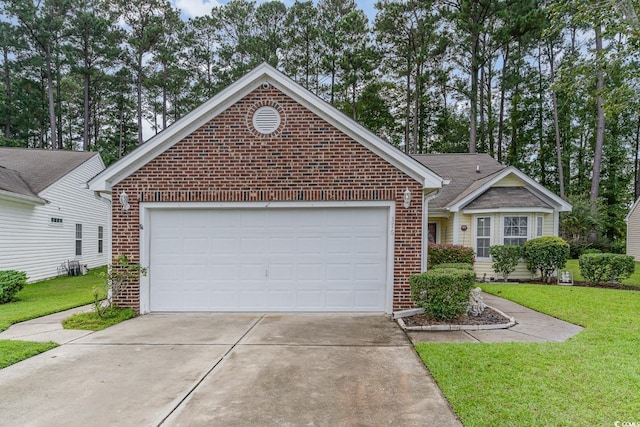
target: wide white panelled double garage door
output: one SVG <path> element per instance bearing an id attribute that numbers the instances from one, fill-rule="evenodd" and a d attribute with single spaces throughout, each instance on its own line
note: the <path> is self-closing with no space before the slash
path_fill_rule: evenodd
<path id="1" fill-rule="evenodd" d="M 384 311 L 388 212 L 151 210 L 150 310 Z"/>

